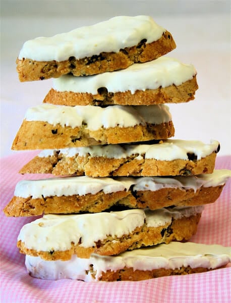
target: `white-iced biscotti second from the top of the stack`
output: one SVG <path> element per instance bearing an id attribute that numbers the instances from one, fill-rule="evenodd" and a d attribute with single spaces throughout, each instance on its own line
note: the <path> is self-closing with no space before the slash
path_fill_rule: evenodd
<path id="1" fill-rule="evenodd" d="M 53 79 L 43 100 L 54 105 L 153 105 L 194 99 L 198 89 L 193 65 L 168 57 L 88 77 Z"/>

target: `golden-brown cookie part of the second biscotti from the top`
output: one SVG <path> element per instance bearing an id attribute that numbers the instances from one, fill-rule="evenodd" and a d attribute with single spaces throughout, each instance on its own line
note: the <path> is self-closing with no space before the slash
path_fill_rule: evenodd
<path id="1" fill-rule="evenodd" d="M 194 99 L 195 91 L 198 85 L 196 77 L 192 80 L 176 86 L 159 87 L 157 89 L 136 90 L 134 94 L 131 91 L 108 92 L 106 88 L 98 89 L 98 93 L 78 93 L 72 91 L 57 91 L 51 88 L 45 96 L 43 103 L 54 105 L 153 105 L 164 103 L 182 103 Z"/>

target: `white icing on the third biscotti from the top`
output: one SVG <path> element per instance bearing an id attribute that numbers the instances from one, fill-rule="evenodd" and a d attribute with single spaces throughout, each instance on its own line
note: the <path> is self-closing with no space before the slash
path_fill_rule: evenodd
<path id="1" fill-rule="evenodd" d="M 60 124 L 80 127 L 83 123 L 90 130 L 101 127 L 130 127 L 146 123 L 161 124 L 171 121 L 169 109 L 165 105 L 147 106 L 56 106 L 43 104 L 29 108 L 25 115 L 27 121 L 44 121 L 52 125 Z"/>

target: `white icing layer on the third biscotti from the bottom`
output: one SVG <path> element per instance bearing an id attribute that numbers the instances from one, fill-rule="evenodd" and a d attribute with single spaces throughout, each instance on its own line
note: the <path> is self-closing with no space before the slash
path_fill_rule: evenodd
<path id="1" fill-rule="evenodd" d="M 92 178 L 88 176 L 48 178 L 41 180 L 21 180 L 15 188 L 15 196 L 32 197 L 33 199 L 48 196 L 71 196 L 95 194 L 99 191 L 104 193 L 128 191 L 134 185 L 134 191 L 151 190 L 161 188 L 180 188 L 181 190 L 218 186 L 226 183 L 231 177 L 231 171 L 222 169 L 214 170 L 212 174 L 202 174 L 188 177 L 142 177 L 142 178 Z"/>

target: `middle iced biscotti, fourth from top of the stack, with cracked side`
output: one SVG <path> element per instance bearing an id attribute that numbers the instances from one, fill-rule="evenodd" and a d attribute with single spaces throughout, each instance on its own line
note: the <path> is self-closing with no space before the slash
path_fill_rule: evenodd
<path id="1" fill-rule="evenodd" d="M 189 176 L 212 173 L 219 142 L 168 139 L 155 144 L 114 144 L 43 150 L 21 170 L 53 175 Z"/>

